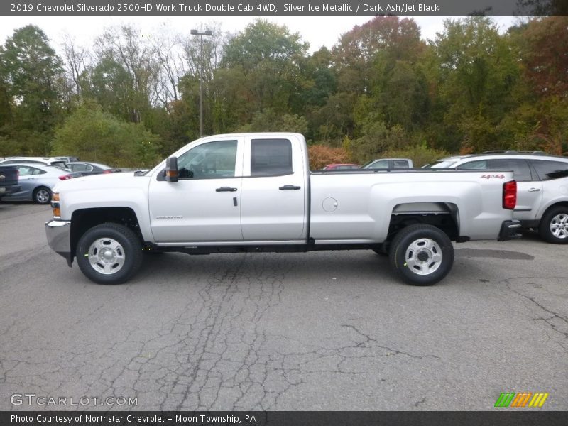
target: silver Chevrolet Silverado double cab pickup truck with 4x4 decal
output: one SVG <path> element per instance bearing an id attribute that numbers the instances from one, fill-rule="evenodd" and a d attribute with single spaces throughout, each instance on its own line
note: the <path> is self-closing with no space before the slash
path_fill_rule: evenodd
<path id="1" fill-rule="evenodd" d="M 371 249 L 413 285 L 452 268 L 457 242 L 505 240 L 511 172 L 310 172 L 297 133 L 207 136 L 144 173 L 61 182 L 53 191 L 50 246 L 87 278 L 117 284 L 145 251 L 190 254 Z"/>

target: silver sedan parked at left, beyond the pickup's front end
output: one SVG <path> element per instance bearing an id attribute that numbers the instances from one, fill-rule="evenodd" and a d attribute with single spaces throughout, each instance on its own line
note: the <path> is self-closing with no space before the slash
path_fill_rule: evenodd
<path id="1" fill-rule="evenodd" d="M 53 165 L 16 163 L 11 166 L 18 168 L 18 185 L 21 186 L 21 191 L 6 195 L 3 200 L 33 200 L 38 204 L 48 204 L 51 201 L 51 190 L 56 183 L 81 175 Z"/>

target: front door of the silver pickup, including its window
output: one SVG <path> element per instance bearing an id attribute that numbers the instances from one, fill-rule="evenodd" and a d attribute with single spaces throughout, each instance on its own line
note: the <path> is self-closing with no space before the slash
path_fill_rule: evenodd
<path id="1" fill-rule="evenodd" d="M 178 182 L 152 177 L 150 220 L 158 243 L 239 242 L 244 142 L 204 141 L 178 156 Z"/>

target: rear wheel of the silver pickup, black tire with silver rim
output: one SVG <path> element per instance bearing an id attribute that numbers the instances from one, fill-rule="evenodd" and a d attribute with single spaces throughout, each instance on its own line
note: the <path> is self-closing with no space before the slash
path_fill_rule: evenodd
<path id="1" fill-rule="evenodd" d="M 406 283 L 432 285 L 454 264 L 454 246 L 436 226 L 415 224 L 398 231 L 388 253 L 392 268 Z"/>

